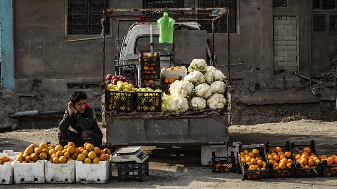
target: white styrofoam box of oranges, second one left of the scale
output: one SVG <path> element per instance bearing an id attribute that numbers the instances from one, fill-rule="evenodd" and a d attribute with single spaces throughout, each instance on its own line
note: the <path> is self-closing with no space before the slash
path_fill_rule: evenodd
<path id="1" fill-rule="evenodd" d="M 45 161 L 46 183 L 75 183 L 75 160 L 65 164 Z"/>

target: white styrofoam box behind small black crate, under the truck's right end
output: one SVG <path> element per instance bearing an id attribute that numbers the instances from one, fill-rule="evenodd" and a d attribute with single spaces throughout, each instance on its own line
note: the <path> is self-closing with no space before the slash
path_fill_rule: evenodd
<path id="1" fill-rule="evenodd" d="M 212 164 L 212 152 L 215 152 L 215 156 L 230 156 L 230 152 L 234 152 L 235 157 L 239 152 L 239 145 L 241 142 L 233 142 L 232 146 L 227 145 L 205 145 L 201 146 L 201 165 Z M 233 147 L 234 146 L 234 147 Z"/>

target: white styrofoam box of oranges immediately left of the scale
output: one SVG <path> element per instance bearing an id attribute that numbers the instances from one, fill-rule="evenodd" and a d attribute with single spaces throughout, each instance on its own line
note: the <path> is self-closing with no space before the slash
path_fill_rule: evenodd
<path id="1" fill-rule="evenodd" d="M 75 161 L 76 183 L 107 183 L 112 175 L 110 161 L 100 161 L 98 164 L 85 164 Z"/>

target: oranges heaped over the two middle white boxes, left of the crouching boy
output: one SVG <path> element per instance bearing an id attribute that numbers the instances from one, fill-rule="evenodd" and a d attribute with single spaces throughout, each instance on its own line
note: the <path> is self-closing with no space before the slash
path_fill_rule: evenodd
<path id="1" fill-rule="evenodd" d="M 39 146 L 31 144 L 24 152 L 18 154 L 16 160 L 21 163 L 34 163 L 38 160 L 49 160 L 52 163 L 67 163 L 67 161 L 77 159 L 79 149 L 75 143 L 70 142 L 62 147 L 59 144 L 51 145 L 43 142 Z"/>

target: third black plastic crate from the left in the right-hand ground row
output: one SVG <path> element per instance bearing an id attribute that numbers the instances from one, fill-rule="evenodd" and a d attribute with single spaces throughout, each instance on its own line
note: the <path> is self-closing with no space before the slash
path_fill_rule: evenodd
<path id="1" fill-rule="evenodd" d="M 291 143 L 291 154 L 297 154 L 300 151 L 304 151 L 304 148 L 309 147 L 311 148 L 311 152 L 313 152 L 317 157 L 317 151 L 315 146 L 315 141 L 310 141 L 310 144 L 308 145 L 295 145 L 294 142 Z M 295 163 L 295 177 L 320 177 L 322 174 L 322 164 L 320 163 L 316 168 L 302 168 L 299 163 L 295 161 L 295 158 L 293 158 Z"/>

